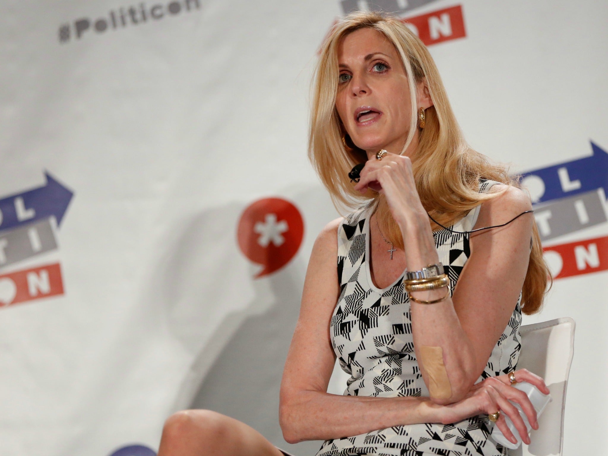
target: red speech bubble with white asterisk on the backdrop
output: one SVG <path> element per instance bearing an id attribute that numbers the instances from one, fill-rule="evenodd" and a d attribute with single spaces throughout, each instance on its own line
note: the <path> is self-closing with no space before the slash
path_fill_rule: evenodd
<path id="1" fill-rule="evenodd" d="M 264 198 L 250 204 L 238 221 L 241 252 L 263 269 L 255 278 L 283 268 L 297 253 L 304 236 L 304 221 L 291 202 Z"/>

